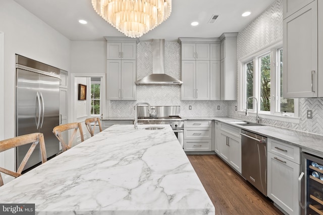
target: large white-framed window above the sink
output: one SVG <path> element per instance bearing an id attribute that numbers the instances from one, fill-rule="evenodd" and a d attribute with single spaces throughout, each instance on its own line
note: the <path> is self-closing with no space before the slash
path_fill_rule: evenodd
<path id="1" fill-rule="evenodd" d="M 240 110 L 247 105 L 248 110 L 255 111 L 256 102 L 249 98 L 254 97 L 258 101 L 260 114 L 298 117 L 298 99 L 283 97 L 281 43 L 245 58 L 241 65 Z"/>

